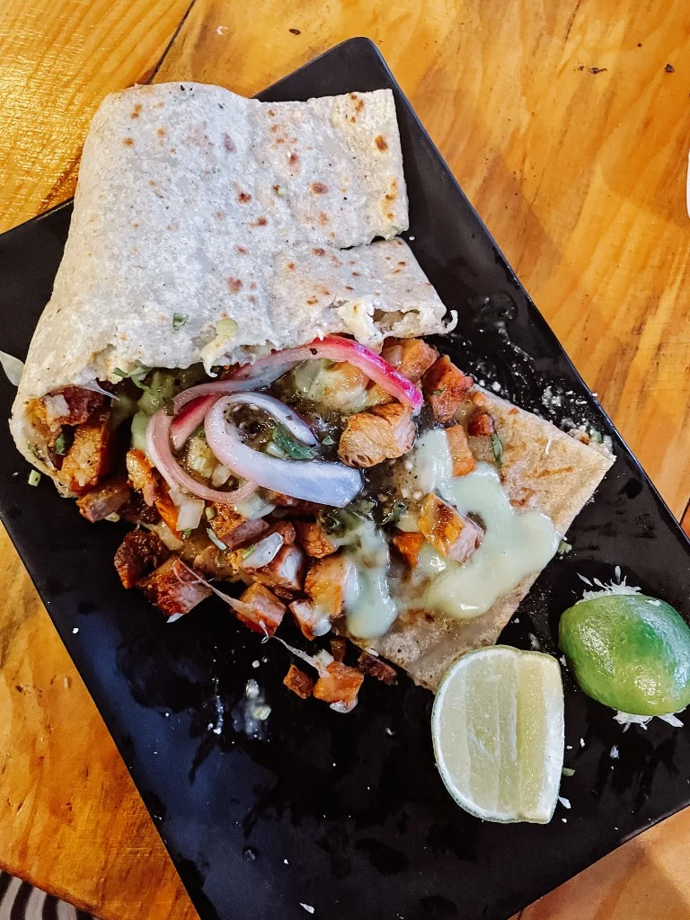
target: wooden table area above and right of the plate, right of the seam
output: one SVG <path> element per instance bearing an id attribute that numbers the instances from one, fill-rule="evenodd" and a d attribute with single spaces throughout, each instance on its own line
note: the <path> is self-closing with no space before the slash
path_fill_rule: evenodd
<path id="1" fill-rule="evenodd" d="M 354 35 L 375 40 L 680 516 L 690 498 L 684 0 L 197 0 L 158 78 L 251 95 Z"/>

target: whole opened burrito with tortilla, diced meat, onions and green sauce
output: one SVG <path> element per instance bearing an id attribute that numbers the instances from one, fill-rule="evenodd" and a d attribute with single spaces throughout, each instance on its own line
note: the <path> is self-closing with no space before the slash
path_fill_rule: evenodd
<path id="1" fill-rule="evenodd" d="M 387 90 L 116 93 L 10 422 L 88 521 L 133 525 L 125 588 L 328 636 L 285 683 L 341 712 L 387 661 L 435 689 L 496 641 L 613 462 L 423 339 L 454 316 L 407 226 Z"/>

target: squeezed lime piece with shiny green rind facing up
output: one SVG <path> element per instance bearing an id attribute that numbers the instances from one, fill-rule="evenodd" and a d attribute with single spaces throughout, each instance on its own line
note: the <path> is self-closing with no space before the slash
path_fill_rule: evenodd
<path id="1" fill-rule="evenodd" d="M 690 704 L 690 628 L 646 594 L 606 594 L 561 616 L 558 645 L 582 690 L 635 716 Z"/>

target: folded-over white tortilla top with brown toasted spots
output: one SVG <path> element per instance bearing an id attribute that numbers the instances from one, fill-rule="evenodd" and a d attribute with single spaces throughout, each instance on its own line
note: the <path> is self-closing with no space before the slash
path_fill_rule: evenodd
<path id="1" fill-rule="evenodd" d="M 375 346 L 440 331 L 443 303 L 391 238 L 407 226 L 390 90 L 261 103 L 187 83 L 109 96 L 13 408 L 19 450 L 50 474 L 29 450 L 28 403 L 117 370 L 210 369 L 328 332 Z M 228 318 L 236 334 L 218 337 Z"/>

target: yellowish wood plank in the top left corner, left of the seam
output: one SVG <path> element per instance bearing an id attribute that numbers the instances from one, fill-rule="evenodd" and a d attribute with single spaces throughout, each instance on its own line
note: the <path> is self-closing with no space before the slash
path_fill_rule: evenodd
<path id="1" fill-rule="evenodd" d="M 98 103 L 151 74 L 189 4 L 0 4 L 0 232 L 74 193 Z"/>

